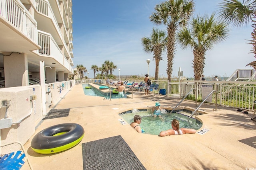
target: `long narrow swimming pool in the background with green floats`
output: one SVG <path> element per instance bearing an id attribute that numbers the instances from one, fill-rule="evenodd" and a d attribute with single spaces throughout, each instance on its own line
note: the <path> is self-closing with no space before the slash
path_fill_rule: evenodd
<path id="1" fill-rule="evenodd" d="M 104 86 L 102 84 L 96 84 L 98 86 Z M 105 97 L 107 99 L 110 98 L 110 94 L 108 94 L 108 92 L 103 92 L 102 90 L 99 90 L 95 87 L 92 88 L 85 88 L 90 86 L 90 84 L 82 84 L 82 87 L 84 89 L 84 94 L 88 95 L 88 96 L 100 96 L 100 97 Z M 114 88 L 111 88 L 111 99 L 118 99 L 118 94 L 113 94 L 112 90 L 114 90 Z M 108 96 L 107 96 L 108 94 Z M 126 94 L 130 94 L 129 92 L 127 92 Z"/>

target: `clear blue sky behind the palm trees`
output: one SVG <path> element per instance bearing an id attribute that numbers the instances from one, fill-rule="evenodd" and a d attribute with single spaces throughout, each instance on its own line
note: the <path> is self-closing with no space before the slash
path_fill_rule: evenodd
<path id="1" fill-rule="evenodd" d="M 73 44 L 74 67 L 83 64 L 93 78 L 91 66 L 101 66 L 104 61 L 112 61 L 117 69 L 113 74 L 142 75 L 148 72 L 147 59 L 150 59 L 149 74 L 155 74 L 153 54 L 146 54 L 141 45 L 142 37 L 149 37 L 153 27 L 166 30 L 164 25 L 154 25 L 149 16 L 159 0 L 73 0 Z M 194 0 L 196 10 L 194 16 L 212 14 L 218 9 L 222 0 Z M 206 77 L 230 76 L 236 69 L 253 69 L 246 66 L 254 61 L 250 53 L 252 45 L 247 44 L 251 39 L 252 27 L 230 27 L 229 37 L 206 52 Z M 159 77 L 167 77 L 166 53 L 164 61 L 160 61 Z M 179 67 L 183 76 L 193 77 L 192 49 L 181 49 L 178 45 L 174 57 L 172 76 L 178 76 Z M 87 74 L 86 74 L 87 76 Z"/>

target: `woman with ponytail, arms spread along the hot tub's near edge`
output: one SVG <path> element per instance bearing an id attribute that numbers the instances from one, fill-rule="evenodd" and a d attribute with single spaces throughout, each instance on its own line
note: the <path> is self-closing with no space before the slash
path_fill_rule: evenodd
<path id="1" fill-rule="evenodd" d="M 180 128 L 180 122 L 177 119 L 172 120 L 172 129 L 168 129 L 167 131 L 161 131 L 160 136 L 167 136 L 167 135 L 183 135 L 186 133 L 196 133 L 195 129 L 187 129 L 187 128 Z"/>

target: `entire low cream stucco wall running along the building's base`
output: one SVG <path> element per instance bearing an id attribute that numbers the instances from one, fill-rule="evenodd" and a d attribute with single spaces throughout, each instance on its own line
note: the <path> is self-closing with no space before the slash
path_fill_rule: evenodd
<path id="1" fill-rule="evenodd" d="M 44 115 L 42 115 L 42 107 L 46 107 L 46 113 L 50 111 L 74 86 L 74 80 L 55 82 L 46 84 L 45 93 L 46 101 L 51 103 L 42 106 L 41 86 L 20 86 L 12 88 L 1 88 L 0 89 L 0 102 L 2 100 L 11 100 L 11 105 L 7 110 L 7 117 L 11 117 L 13 122 L 20 121 L 26 117 L 23 121 L 18 124 L 13 124 L 9 128 L 0 129 L 0 145 L 8 144 L 11 142 L 19 141 L 22 144 L 26 143 L 28 139 L 34 134 L 35 127 L 40 123 Z M 64 84 L 64 87 L 62 86 Z M 31 114 L 30 96 L 36 95 L 36 100 L 32 100 L 33 109 Z M 50 100 L 49 100 L 50 97 Z M 0 108 L 0 119 L 5 117 L 6 107 Z M 0 154 L 9 153 L 13 150 L 20 149 L 19 145 L 11 145 L 10 147 L 4 147 L 0 149 Z"/>

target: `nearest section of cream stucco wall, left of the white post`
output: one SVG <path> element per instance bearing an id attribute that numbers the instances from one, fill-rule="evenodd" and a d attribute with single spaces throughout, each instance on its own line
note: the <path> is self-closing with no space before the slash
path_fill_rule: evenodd
<path id="1" fill-rule="evenodd" d="M 1 129 L 0 145 L 4 145 L 14 141 L 26 143 L 26 141 L 34 134 L 35 122 L 38 121 L 40 117 L 42 117 L 42 102 L 40 89 L 40 85 L 33 85 L 2 88 L 0 90 L 1 102 L 2 100 L 11 101 L 11 105 L 7 109 L 7 117 L 12 118 L 13 123 L 9 128 Z M 36 95 L 36 100 L 30 101 L 30 96 L 32 95 Z M 32 111 L 31 102 L 33 104 Z M 5 117 L 6 108 L 7 107 L 0 108 L 1 119 Z M 19 121 L 20 123 L 17 123 Z M 12 149 L 12 147 L 4 147 L 3 149 L 1 149 L 1 153 L 9 152 Z"/>

